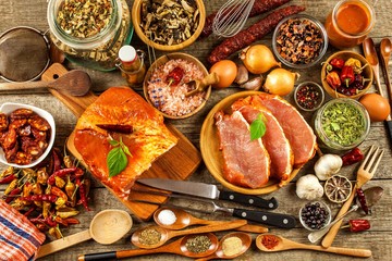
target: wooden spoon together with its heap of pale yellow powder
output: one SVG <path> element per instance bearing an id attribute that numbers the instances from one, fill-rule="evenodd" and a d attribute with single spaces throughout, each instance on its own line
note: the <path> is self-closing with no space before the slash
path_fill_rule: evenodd
<path id="1" fill-rule="evenodd" d="M 206 258 L 196 261 L 205 261 L 210 259 L 235 259 L 246 252 L 252 245 L 252 237 L 243 232 L 233 232 L 219 240 L 217 251 Z"/>

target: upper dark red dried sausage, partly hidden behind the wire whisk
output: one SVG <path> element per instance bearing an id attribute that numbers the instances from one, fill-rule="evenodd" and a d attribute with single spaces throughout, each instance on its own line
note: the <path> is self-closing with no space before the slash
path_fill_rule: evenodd
<path id="1" fill-rule="evenodd" d="M 279 8 L 290 1 L 291 0 L 256 0 L 250 10 L 249 17 L 253 17 L 253 16 L 262 14 L 265 12 L 268 12 L 270 10 L 273 10 L 275 8 Z M 201 37 L 207 37 L 212 33 L 212 23 L 213 23 L 213 18 L 216 17 L 217 13 L 218 12 L 213 12 L 207 16 L 205 26 L 200 34 Z"/>

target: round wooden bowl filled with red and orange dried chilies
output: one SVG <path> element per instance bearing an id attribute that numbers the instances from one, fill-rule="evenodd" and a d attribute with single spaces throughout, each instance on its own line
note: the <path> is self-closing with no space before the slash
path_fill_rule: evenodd
<path id="1" fill-rule="evenodd" d="M 354 51 L 339 51 L 323 62 L 321 83 L 332 98 L 358 99 L 368 91 L 373 74 L 368 61 Z"/>

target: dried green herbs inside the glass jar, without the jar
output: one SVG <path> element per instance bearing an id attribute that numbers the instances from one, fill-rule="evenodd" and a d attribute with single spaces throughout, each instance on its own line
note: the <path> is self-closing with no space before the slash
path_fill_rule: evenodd
<path id="1" fill-rule="evenodd" d="M 329 139 L 343 146 L 354 144 L 365 130 L 360 111 L 348 103 L 333 103 L 326 108 L 321 125 Z"/>

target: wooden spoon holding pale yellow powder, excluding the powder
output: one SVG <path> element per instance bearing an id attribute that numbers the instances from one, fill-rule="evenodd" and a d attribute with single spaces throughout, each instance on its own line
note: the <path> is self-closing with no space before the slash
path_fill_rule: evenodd
<path id="1" fill-rule="evenodd" d="M 231 237 L 238 237 L 242 241 L 242 247 L 241 247 L 241 250 L 238 252 L 236 252 L 235 254 L 226 256 L 223 252 L 223 241 Z M 235 259 L 235 258 L 240 257 L 241 254 L 243 254 L 244 252 L 246 252 L 249 249 L 250 245 L 252 245 L 252 237 L 248 234 L 243 233 L 243 232 L 230 233 L 220 239 L 218 249 L 215 253 L 212 253 L 211 256 L 208 256 L 206 258 L 197 259 L 196 261 L 205 261 L 205 260 L 210 260 L 210 259 Z"/>

